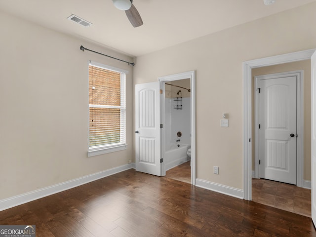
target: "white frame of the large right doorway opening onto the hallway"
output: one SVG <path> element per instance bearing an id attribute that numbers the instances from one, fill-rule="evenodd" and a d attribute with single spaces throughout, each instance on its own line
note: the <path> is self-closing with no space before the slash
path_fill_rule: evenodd
<path id="1" fill-rule="evenodd" d="M 243 199 L 251 200 L 251 69 L 311 59 L 316 49 L 276 55 L 243 62 Z"/>

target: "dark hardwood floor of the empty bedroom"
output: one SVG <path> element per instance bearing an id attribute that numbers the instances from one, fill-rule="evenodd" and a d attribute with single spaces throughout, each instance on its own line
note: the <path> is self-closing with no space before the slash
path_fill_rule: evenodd
<path id="1" fill-rule="evenodd" d="M 0 212 L 37 237 L 316 237 L 311 218 L 130 169 Z"/>

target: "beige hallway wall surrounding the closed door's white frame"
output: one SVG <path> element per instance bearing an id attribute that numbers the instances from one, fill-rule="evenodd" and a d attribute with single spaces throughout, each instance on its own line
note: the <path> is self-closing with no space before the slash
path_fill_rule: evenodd
<path id="1" fill-rule="evenodd" d="M 252 170 L 254 170 L 254 77 L 273 73 L 304 70 L 304 180 L 311 180 L 311 60 L 252 69 Z"/>

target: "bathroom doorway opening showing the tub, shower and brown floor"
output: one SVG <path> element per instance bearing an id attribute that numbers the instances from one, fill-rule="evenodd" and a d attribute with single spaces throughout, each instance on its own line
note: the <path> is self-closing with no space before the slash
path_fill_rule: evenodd
<path id="1" fill-rule="evenodd" d="M 165 82 L 166 177 L 191 184 L 191 81 Z"/>

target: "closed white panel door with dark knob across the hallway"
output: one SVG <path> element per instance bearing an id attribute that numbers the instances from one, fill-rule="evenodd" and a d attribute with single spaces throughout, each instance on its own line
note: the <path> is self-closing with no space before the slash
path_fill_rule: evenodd
<path id="1" fill-rule="evenodd" d="M 296 77 L 260 80 L 260 178 L 296 184 Z"/>

